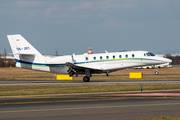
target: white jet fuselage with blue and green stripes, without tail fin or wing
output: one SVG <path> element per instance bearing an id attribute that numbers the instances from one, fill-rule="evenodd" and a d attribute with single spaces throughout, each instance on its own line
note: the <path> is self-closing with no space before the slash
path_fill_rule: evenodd
<path id="1" fill-rule="evenodd" d="M 112 72 L 120 69 L 158 65 L 171 62 L 171 60 L 163 57 L 151 56 L 148 51 L 128 51 L 128 52 L 112 52 L 99 54 L 83 54 L 83 55 L 66 55 L 58 57 L 45 57 L 42 63 L 17 62 L 16 66 L 26 69 L 41 70 L 53 73 L 67 74 L 67 62 L 76 66 L 101 70 L 102 72 Z"/>

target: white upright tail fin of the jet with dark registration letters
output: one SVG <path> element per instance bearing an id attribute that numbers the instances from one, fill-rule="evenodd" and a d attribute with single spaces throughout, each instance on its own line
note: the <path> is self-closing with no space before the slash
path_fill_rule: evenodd
<path id="1" fill-rule="evenodd" d="M 45 63 L 44 56 L 21 35 L 7 35 L 7 37 L 16 62 L 29 64 Z"/>

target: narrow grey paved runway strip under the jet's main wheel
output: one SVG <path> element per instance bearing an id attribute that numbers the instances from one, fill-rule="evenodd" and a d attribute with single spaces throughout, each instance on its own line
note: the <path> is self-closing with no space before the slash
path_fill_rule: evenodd
<path id="1" fill-rule="evenodd" d="M 126 80 L 126 81 L 9 81 L 0 80 L 0 86 L 25 85 L 113 85 L 113 84 L 180 84 L 180 80 Z"/>

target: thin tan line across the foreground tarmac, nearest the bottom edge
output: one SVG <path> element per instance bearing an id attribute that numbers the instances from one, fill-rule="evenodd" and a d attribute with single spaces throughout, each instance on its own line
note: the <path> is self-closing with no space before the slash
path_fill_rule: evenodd
<path id="1" fill-rule="evenodd" d="M 120 106 L 99 106 L 99 107 L 79 107 L 79 108 L 59 108 L 59 109 L 38 109 L 38 110 L 17 110 L 17 111 L 0 111 L 0 113 L 20 113 L 20 112 L 42 112 L 42 111 L 58 111 L 58 110 L 81 110 L 81 109 L 100 109 L 100 108 L 121 108 L 121 107 L 144 107 L 144 106 L 167 106 L 180 105 L 180 103 L 165 104 L 142 104 L 142 105 L 120 105 Z"/>

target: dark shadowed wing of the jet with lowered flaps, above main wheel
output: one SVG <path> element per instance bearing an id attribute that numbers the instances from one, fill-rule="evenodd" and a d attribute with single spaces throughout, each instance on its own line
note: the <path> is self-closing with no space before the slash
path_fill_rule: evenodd
<path id="1" fill-rule="evenodd" d="M 67 72 L 68 72 L 68 74 L 70 76 L 72 76 L 74 74 L 85 74 L 85 69 L 89 69 L 91 74 L 93 74 L 93 73 L 103 73 L 104 72 L 103 70 L 76 66 L 76 65 L 74 65 L 74 64 L 72 64 L 70 62 L 67 62 L 66 66 L 69 68 Z"/>

